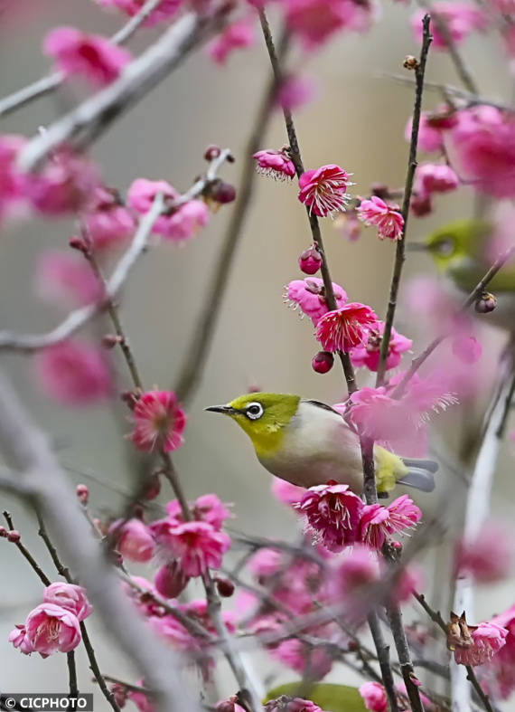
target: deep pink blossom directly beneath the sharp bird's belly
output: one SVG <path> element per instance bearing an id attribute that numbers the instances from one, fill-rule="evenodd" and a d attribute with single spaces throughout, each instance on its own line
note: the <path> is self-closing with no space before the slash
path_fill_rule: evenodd
<path id="1" fill-rule="evenodd" d="M 311 487 L 298 505 L 309 526 L 330 551 L 341 551 L 358 538 L 363 503 L 348 485 Z"/>

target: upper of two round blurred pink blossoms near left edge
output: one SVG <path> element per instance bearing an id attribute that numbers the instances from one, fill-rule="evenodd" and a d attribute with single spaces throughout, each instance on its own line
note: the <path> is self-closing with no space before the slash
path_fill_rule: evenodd
<path id="1" fill-rule="evenodd" d="M 102 296 L 102 285 L 89 264 L 62 250 L 42 252 L 36 281 L 43 299 L 66 309 L 89 304 Z"/>

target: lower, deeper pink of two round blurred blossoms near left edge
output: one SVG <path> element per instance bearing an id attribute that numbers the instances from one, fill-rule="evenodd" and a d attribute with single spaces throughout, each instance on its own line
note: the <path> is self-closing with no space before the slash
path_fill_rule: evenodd
<path id="1" fill-rule="evenodd" d="M 65 405 L 89 405 L 112 394 L 105 351 L 69 339 L 42 349 L 34 367 L 42 392 Z"/>

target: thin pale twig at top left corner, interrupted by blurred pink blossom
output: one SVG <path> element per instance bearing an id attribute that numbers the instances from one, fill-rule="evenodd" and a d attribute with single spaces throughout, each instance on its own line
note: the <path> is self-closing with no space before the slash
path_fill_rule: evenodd
<path id="1" fill-rule="evenodd" d="M 115 44 L 124 44 L 126 41 L 132 37 L 136 32 L 140 24 L 143 24 L 151 14 L 157 5 L 162 3 L 163 0 L 147 0 L 145 5 L 135 14 L 134 17 L 126 23 L 117 33 L 113 34 L 111 37 L 111 42 Z M 42 77 L 37 81 L 33 81 L 23 89 L 14 91 L 13 94 L 9 94 L 0 100 L 0 117 L 10 114 L 15 109 L 21 109 L 25 104 L 30 101 L 39 99 L 45 94 L 49 94 L 51 91 L 59 89 L 61 84 L 66 80 L 66 74 L 64 71 L 53 71 L 52 74 L 48 74 L 46 77 Z"/>

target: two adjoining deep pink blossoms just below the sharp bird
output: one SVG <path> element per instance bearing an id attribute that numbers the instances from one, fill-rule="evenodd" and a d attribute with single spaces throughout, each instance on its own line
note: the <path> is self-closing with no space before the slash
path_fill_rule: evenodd
<path id="1" fill-rule="evenodd" d="M 407 495 L 388 507 L 364 505 L 348 485 L 331 483 L 308 489 L 297 508 L 305 515 L 314 536 L 332 552 L 356 542 L 380 549 L 389 536 L 415 527 L 422 517 Z"/>

